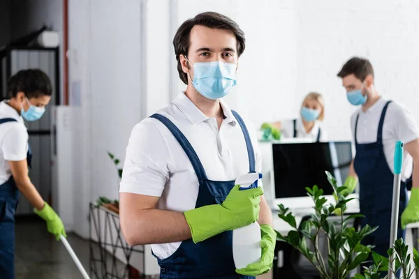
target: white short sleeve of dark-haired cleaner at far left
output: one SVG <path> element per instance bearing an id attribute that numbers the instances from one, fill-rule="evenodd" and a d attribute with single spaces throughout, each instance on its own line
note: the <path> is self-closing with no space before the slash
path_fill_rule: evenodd
<path id="1" fill-rule="evenodd" d="M 28 132 L 19 123 L 11 123 L 1 141 L 4 160 L 21 161 L 27 158 Z"/>

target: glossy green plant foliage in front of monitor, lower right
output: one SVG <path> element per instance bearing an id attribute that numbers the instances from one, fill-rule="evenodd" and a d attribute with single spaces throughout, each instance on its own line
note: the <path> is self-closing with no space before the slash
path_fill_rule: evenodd
<path id="1" fill-rule="evenodd" d="M 350 216 L 336 216 L 334 212 L 340 209 L 341 212 L 346 211 L 346 204 L 352 200 L 341 195 L 341 191 L 346 187 L 338 186 L 335 177 L 326 172 L 328 181 L 332 186 L 336 204 L 327 204 L 327 199 L 322 197 L 323 190 L 317 186 L 307 188 L 307 194 L 313 199 L 314 213 L 311 214 L 309 220 L 305 220 L 297 227 L 295 216 L 285 208 L 283 204 L 279 204 L 279 218 L 286 221 L 294 229 L 283 236 L 277 232 L 277 239 L 284 241 L 299 251 L 318 271 L 323 279 L 344 279 L 348 278 L 355 269 L 358 269 L 368 259 L 369 255 L 374 258 L 372 266 L 364 267 L 364 275 L 355 274 L 356 279 L 381 279 L 379 271 L 388 271 L 388 258 L 372 252 L 373 246 L 363 246 L 362 239 L 368 234 L 374 232 L 377 227 L 365 225 L 360 229 L 351 227 L 349 223 L 355 218 L 362 218 L 361 214 L 353 214 Z M 332 219 L 335 219 L 333 221 Z M 318 246 L 319 236 L 322 235 L 327 241 L 327 252 L 321 251 Z M 402 271 L 406 274 L 404 278 L 411 278 L 413 271 L 409 269 L 409 260 L 411 255 L 407 255 L 407 246 L 400 239 L 396 241 L 394 247 L 389 250 L 395 252 L 396 269 L 392 272 Z M 372 254 L 371 254 L 372 253 Z M 418 253 L 414 252 L 413 259 L 416 266 L 419 266 Z M 389 254 L 390 255 L 390 254 Z M 414 269 L 416 270 L 417 267 Z M 386 277 L 383 277 L 386 278 Z"/>

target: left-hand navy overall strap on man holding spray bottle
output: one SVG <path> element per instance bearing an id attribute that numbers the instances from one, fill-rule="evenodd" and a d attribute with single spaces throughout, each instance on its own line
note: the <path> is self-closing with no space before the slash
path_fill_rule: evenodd
<path id="1" fill-rule="evenodd" d="M 196 176 L 198 176 L 198 181 L 203 181 L 204 179 L 207 179 L 207 174 L 205 174 L 203 164 L 200 162 L 198 155 L 191 146 L 191 143 L 186 139 L 186 137 L 184 136 L 184 134 L 182 134 L 179 128 L 177 128 L 175 124 L 172 121 L 170 121 L 166 116 L 163 116 L 161 114 L 153 114 L 150 117 L 159 120 L 161 123 L 164 124 L 164 126 L 166 126 L 170 130 L 177 142 L 179 142 L 180 146 L 182 146 L 182 149 L 185 151 L 186 156 L 188 156 L 189 160 L 191 161 Z"/>

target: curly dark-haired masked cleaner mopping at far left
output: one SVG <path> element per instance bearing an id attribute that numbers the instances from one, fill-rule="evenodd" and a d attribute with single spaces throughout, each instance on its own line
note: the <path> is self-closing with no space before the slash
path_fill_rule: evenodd
<path id="1" fill-rule="evenodd" d="M 31 149 L 23 119 L 36 121 L 50 102 L 52 85 L 41 70 L 29 69 L 10 77 L 10 100 L 0 103 L 0 278 L 15 278 L 15 210 L 19 192 L 47 223 L 48 232 L 59 240 L 64 225 L 31 183 Z"/>

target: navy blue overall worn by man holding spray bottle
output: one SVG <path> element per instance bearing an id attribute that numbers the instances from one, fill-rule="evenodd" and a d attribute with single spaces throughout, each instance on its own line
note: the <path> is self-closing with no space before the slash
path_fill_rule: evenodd
<path id="1" fill-rule="evenodd" d="M 256 161 L 249 133 L 239 114 L 233 112 L 233 115 L 242 128 L 244 140 L 247 144 L 249 172 L 255 172 Z M 161 121 L 170 130 L 192 163 L 199 181 L 195 208 L 210 204 L 221 204 L 233 188 L 234 181 L 209 180 L 198 155 L 175 124 L 160 114 L 154 114 L 151 117 Z M 242 276 L 235 272 L 232 241 L 233 231 L 223 232 L 196 244 L 193 243 L 192 239 L 182 241 L 179 248 L 170 257 L 166 259 L 157 258 L 161 268 L 160 278 L 254 278 L 253 276 Z"/>

